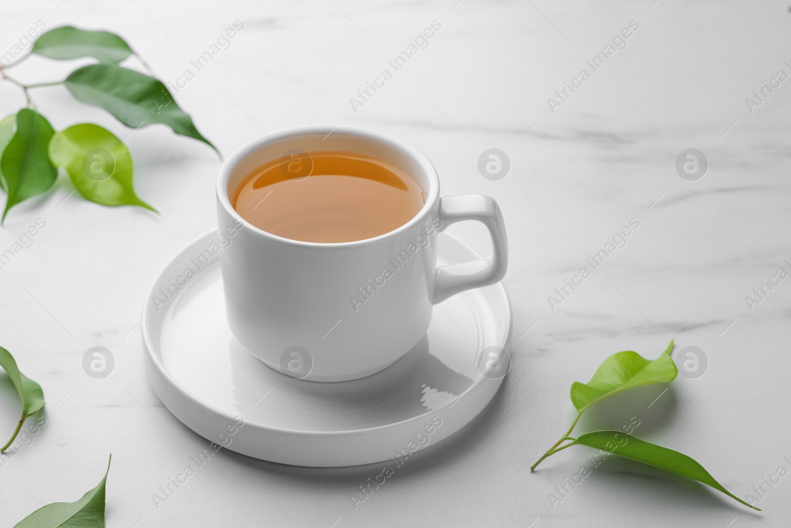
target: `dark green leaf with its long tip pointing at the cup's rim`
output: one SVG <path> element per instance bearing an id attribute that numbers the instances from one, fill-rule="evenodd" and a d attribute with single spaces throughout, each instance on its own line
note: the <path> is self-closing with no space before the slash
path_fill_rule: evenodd
<path id="1" fill-rule="evenodd" d="M 176 134 L 217 150 L 173 101 L 165 85 L 153 77 L 112 64 L 92 64 L 74 70 L 63 83 L 76 99 L 104 108 L 127 127 L 163 123 Z"/>

